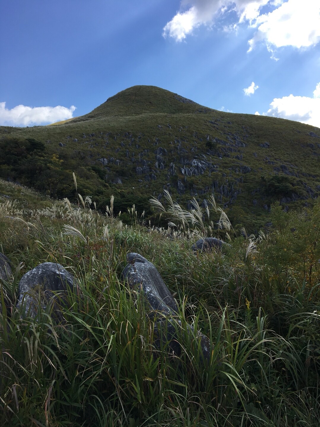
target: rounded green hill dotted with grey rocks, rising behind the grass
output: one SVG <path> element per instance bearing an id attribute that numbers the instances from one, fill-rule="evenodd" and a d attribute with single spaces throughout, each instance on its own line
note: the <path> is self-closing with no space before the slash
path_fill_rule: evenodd
<path id="1" fill-rule="evenodd" d="M 153 220 L 148 199 L 161 199 L 164 189 L 184 206 L 213 193 L 235 226 L 257 232 L 270 222 L 273 202 L 285 210 L 314 203 L 319 136 L 302 123 L 224 113 L 134 86 L 56 126 L 1 127 L 0 176 L 74 200 L 74 172 L 79 193 L 93 196 L 99 209 L 114 194 L 123 221 L 133 203 Z M 43 149 L 30 149 L 29 139 Z"/>

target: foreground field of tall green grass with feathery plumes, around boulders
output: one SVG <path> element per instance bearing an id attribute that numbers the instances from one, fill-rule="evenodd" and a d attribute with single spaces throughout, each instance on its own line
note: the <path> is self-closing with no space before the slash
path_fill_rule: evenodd
<path id="1" fill-rule="evenodd" d="M 175 225 L 165 230 L 142 225 L 134 207 L 122 224 L 113 200 L 102 216 L 80 195 L 71 205 L 5 181 L 0 193 L 13 272 L 0 295 L 2 426 L 319 425 L 318 201 L 301 212 L 274 205 L 268 234 L 237 236 L 213 199 L 191 215 L 168 199 Z M 211 235 L 230 247 L 193 254 Z M 128 252 L 153 262 L 177 300 L 180 358 L 154 347 L 143 296 L 120 279 Z M 60 324 L 49 308 L 37 319 L 16 308 L 20 278 L 46 261 L 79 281 Z M 209 365 L 187 323 L 210 337 Z"/>

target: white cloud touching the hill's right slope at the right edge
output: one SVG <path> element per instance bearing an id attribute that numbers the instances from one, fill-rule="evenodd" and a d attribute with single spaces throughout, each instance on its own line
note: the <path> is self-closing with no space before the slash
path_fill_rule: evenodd
<path id="1" fill-rule="evenodd" d="M 274 98 L 267 116 L 296 120 L 320 128 L 320 82 L 317 84 L 313 98 L 294 96 Z"/>

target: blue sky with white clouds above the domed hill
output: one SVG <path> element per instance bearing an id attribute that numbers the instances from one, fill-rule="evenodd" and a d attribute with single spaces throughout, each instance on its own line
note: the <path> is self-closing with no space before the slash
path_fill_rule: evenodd
<path id="1" fill-rule="evenodd" d="M 0 28 L 0 125 L 65 120 L 154 85 L 320 127 L 319 0 L 10 0 Z"/>

